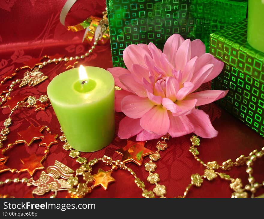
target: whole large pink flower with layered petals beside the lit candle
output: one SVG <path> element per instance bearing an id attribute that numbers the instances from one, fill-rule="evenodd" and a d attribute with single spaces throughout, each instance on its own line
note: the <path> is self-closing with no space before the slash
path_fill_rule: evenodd
<path id="1" fill-rule="evenodd" d="M 108 69 L 122 88 L 115 91 L 116 111 L 126 115 L 119 124 L 120 138 L 137 135 L 137 141 L 144 141 L 192 132 L 203 138 L 217 136 L 209 116 L 195 107 L 223 98 L 228 90 L 195 92 L 223 69 L 223 62 L 205 53 L 200 40 L 174 34 L 163 52 L 153 43 L 129 45 L 123 59 L 128 69 Z"/>

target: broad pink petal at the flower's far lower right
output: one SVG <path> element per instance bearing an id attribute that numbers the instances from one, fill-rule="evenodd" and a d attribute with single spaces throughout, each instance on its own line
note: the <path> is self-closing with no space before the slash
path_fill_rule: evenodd
<path id="1" fill-rule="evenodd" d="M 218 131 L 214 129 L 209 119 L 209 116 L 202 110 L 193 110 L 187 115 L 194 127 L 194 133 L 202 138 L 214 138 Z"/>

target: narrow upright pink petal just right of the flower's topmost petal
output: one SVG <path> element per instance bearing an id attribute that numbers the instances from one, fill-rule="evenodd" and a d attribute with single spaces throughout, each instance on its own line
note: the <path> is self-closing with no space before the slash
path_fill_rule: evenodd
<path id="1" fill-rule="evenodd" d="M 190 39 L 185 40 L 175 55 L 175 68 L 177 70 L 183 71 L 186 63 L 191 57 L 191 41 Z"/>

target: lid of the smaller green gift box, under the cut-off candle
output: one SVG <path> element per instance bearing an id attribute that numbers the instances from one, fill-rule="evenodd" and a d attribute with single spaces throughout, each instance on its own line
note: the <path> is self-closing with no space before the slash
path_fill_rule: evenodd
<path id="1" fill-rule="evenodd" d="M 264 53 L 247 42 L 247 19 L 210 34 L 210 53 L 264 83 Z"/>

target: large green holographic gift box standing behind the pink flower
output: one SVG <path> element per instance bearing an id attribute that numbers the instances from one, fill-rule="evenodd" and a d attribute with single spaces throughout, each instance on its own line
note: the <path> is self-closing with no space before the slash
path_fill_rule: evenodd
<path id="1" fill-rule="evenodd" d="M 246 18 L 247 0 L 107 0 L 114 67 L 125 67 L 122 53 L 130 44 L 152 42 L 163 49 L 178 33 L 201 39 Z"/>

